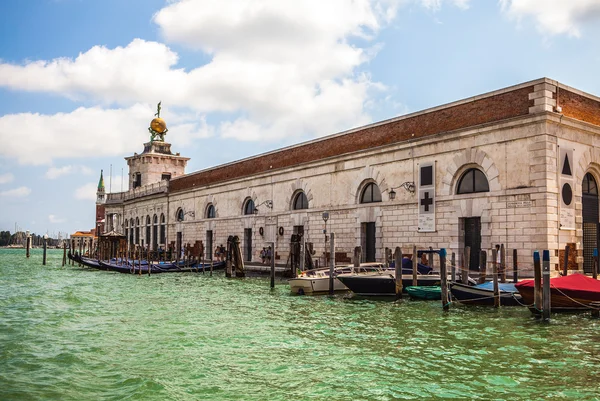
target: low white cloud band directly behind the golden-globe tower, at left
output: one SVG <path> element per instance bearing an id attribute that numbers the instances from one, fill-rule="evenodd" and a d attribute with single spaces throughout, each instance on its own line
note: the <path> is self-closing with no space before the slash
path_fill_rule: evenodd
<path id="1" fill-rule="evenodd" d="M 8 114 L 0 117 L 0 156 L 16 158 L 21 164 L 50 164 L 57 159 L 93 158 L 130 155 L 150 139 L 147 127 L 154 111 L 149 105 L 135 104 L 126 109 L 104 110 L 100 107 L 78 108 L 71 113 Z M 183 132 L 189 139 L 206 135 L 197 126 L 200 118 L 190 122 L 173 113 L 177 123 L 170 130 Z M 14 137 L 13 132 L 27 135 Z M 177 135 L 175 135 L 177 136 Z M 167 134 L 167 140 L 169 134 Z M 57 178 L 69 173 L 92 173 L 82 166 L 51 167 L 46 177 Z"/>

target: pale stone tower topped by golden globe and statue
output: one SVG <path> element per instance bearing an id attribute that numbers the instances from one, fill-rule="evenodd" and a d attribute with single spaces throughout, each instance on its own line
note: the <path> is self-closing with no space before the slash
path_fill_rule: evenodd
<path id="1" fill-rule="evenodd" d="M 126 157 L 129 166 L 129 190 L 169 181 L 171 178 L 185 174 L 185 166 L 189 157 L 182 157 L 171 152 L 171 144 L 165 142 L 168 131 L 167 123 L 160 118 L 161 103 L 157 105 L 155 118 L 150 122 L 150 142 L 144 144 L 141 154 L 135 153 Z"/>

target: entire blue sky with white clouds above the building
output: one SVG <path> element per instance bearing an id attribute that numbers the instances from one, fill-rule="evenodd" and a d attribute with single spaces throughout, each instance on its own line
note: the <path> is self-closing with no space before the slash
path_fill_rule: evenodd
<path id="1" fill-rule="evenodd" d="M 600 96 L 600 0 L 7 0 L 0 230 L 94 227 L 156 105 L 186 172 L 548 77 Z M 112 174 L 111 174 L 112 172 Z"/>

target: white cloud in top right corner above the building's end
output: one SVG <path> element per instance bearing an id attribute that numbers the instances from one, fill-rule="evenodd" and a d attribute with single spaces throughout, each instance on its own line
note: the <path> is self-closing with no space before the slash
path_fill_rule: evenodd
<path id="1" fill-rule="evenodd" d="M 581 36 L 586 23 L 600 20 L 598 0 L 499 0 L 502 10 L 516 20 L 533 18 L 542 34 Z"/>

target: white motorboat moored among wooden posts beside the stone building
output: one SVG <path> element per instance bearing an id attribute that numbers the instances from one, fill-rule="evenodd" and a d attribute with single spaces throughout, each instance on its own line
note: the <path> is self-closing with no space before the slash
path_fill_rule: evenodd
<path id="1" fill-rule="evenodd" d="M 334 269 L 333 280 L 334 291 L 348 291 L 338 276 L 344 274 L 367 274 L 385 269 L 382 263 L 361 263 L 360 266 L 353 265 L 337 266 Z M 294 294 L 323 294 L 329 292 L 329 267 L 303 271 L 296 278 L 289 279 L 290 290 Z"/>

